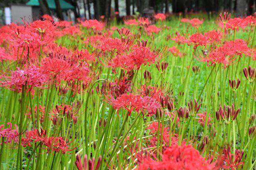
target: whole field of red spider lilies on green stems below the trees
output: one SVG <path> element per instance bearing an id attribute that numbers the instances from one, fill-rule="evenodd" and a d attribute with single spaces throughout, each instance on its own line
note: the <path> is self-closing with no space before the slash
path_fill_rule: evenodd
<path id="1" fill-rule="evenodd" d="M 256 18 L 154 17 L 0 27 L 0 170 L 255 169 Z"/>

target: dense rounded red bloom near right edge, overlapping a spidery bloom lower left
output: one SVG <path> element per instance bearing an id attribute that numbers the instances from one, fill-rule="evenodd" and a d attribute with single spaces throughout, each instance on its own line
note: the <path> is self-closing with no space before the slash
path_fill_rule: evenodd
<path id="1" fill-rule="evenodd" d="M 223 44 L 222 50 L 226 55 L 233 56 L 239 55 L 240 57 L 242 54 L 246 56 L 250 56 L 250 48 L 247 46 L 247 43 L 242 39 L 236 39 L 233 41 L 228 41 Z"/>

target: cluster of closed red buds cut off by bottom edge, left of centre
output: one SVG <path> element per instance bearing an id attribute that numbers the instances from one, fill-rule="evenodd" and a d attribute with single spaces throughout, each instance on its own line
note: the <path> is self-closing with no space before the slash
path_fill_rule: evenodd
<path id="1" fill-rule="evenodd" d="M 102 162 L 102 157 L 99 156 L 96 166 L 95 166 L 95 158 L 93 158 L 92 160 L 89 159 L 89 165 L 87 165 L 87 155 L 85 155 L 83 158 L 83 164 L 82 164 L 80 155 L 78 154 L 76 156 L 76 167 L 78 170 L 87 170 L 87 167 L 89 168 L 89 170 L 99 170 L 101 162 Z"/>

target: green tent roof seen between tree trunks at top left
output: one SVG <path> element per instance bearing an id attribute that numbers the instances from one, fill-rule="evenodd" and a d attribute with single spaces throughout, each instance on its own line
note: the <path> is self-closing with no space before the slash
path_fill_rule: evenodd
<path id="1" fill-rule="evenodd" d="M 50 9 L 56 9 L 54 0 L 46 0 L 46 1 L 48 4 L 48 7 Z M 61 6 L 61 9 L 63 9 L 63 10 L 74 9 L 73 5 L 67 3 L 64 0 L 59 0 L 59 4 Z M 38 0 L 30 0 L 29 2 L 26 3 L 26 5 L 39 6 L 39 1 Z"/>

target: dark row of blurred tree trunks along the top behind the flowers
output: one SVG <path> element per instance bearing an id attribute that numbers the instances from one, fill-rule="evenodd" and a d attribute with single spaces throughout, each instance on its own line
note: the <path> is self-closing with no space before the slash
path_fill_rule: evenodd
<path id="1" fill-rule="evenodd" d="M 29 0 L 0 0 L 0 16 L 4 7 L 11 4 L 26 4 Z M 38 0 L 43 14 L 49 14 L 47 0 Z M 52 0 L 56 4 L 54 14 L 63 19 L 61 0 Z M 118 16 L 143 14 L 145 9 L 154 9 L 155 13 L 197 13 L 229 11 L 236 16 L 253 14 L 256 0 L 65 0 L 74 6 L 75 18 L 108 19 L 115 12 Z M 116 15 L 117 15 L 116 13 Z"/>

